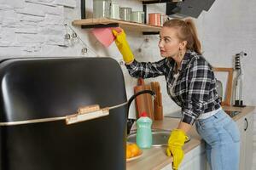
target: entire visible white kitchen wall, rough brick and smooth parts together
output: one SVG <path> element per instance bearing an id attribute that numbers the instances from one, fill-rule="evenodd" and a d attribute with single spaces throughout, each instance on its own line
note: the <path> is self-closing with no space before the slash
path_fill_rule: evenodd
<path id="1" fill-rule="evenodd" d="M 137 0 L 116 2 L 121 6 L 132 7 L 134 10 L 143 9 L 143 5 Z M 247 57 L 242 59 L 246 105 L 256 105 L 254 93 L 256 80 L 255 7 L 256 1 L 254 0 L 247 0 L 246 3 L 240 0 L 215 1 L 208 12 L 202 12 L 201 16 L 195 20 L 204 56 L 212 65 L 232 67 L 234 54 L 241 50 L 247 52 Z M 88 16 L 91 16 L 91 8 L 92 0 L 86 0 Z M 163 4 L 150 5 L 148 12 L 164 12 L 164 8 Z M 79 18 L 80 0 L 0 0 L 1 59 L 15 56 L 109 56 L 118 61 L 122 59 L 114 44 L 109 48 L 103 48 L 89 30 L 81 30 L 79 27 L 73 27 L 73 29 L 90 48 L 88 54 L 81 53 L 81 48 L 84 47 L 81 43 L 65 42 L 64 34 L 72 31 L 63 25 L 71 26 L 71 21 Z M 142 36 L 136 31 L 127 31 L 127 35 L 137 60 L 160 59 L 157 47 L 158 36 Z M 149 42 L 144 42 L 145 38 L 148 38 Z M 63 47 L 63 45 L 69 46 Z M 139 52 L 138 48 L 142 48 L 142 51 Z M 137 80 L 129 77 L 124 66 L 122 68 L 129 97 L 133 94 L 133 86 Z M 223 75 L 218 75 L 218 77 L 224 81 Z M 160 81 L 164 112 L 170 113 L 178 110 L 177 105 L 166 94 L 165 79 L 158 77 L 154 81 Z M 131 116 L 134 116 L 134 108 L 131 109 Z M 256 127 L 254 131 L 256 133 Z M 256 147 L 256 136 L 254 136 L 254 146 Z M 254 160 L 256 161 L 255 158 Z"/>

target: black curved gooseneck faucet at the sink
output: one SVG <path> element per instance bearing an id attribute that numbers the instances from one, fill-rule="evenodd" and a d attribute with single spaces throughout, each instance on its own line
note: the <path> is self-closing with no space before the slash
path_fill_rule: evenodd
<path id="1" fill-rule="evenodd" d="M 130 109 L 131 102 L 138 95 L 141 95 L 141 94 L 151 94 L 155 98 L 155 94 L 154 94 L 154 92 L 152 90 L 143 90 L 143 91 L 140 91 L 137 94 L 133 94 L 131 96 L 131 98 L 127 102 L 127 113 L 126 113 L 126 116 L 127 116 L 127 134 L 130 134 L 131 127 L 132 127 L 133 123 L 136 122 L 136 119 L 129 119 L 129 109 Z"/>

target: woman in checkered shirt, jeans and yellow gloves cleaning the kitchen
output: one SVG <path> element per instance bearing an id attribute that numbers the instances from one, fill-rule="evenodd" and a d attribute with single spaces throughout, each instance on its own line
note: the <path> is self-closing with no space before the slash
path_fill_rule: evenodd
<path id="1" fill-rule="evenodd" d="M 240 136 L 230 116 L 221 108 L 212 66 L 201 55 L 193 20 L 167 20 L 160 30 L 160 55 L 154 63 L 134 59 L 125 32 L 113 30 L 116 45 L 131 77 L 166 77 L 167 93 L 182 108 L 182 119 L 172 130 L 166 150 L 172 168 L 183 160 L 186 133 L 195 123 L 205 140 L 207 161 L 213 170 L 238 170 Z"/>

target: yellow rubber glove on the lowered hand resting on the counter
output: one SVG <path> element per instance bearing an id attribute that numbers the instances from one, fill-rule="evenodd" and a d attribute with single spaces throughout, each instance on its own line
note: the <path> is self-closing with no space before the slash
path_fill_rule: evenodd
<path id="1" fill-rule="evenodd" d="M 173 157 L 172 169 L 177 170 L 179 164 L 183 161 L 183 145 L 188 139 L 186 134 L 181 129 L 173 129 L 172 133 L 168 139 L 168 147 L 166 150 L 166 155 Z"/>

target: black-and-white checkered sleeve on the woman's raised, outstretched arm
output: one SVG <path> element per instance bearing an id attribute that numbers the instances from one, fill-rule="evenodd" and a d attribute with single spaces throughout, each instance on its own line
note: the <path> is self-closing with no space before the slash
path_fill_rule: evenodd
<path id="1" fill-rule="evenodd" d="M 151 78 L 165 75 L 166 59 L 161 59 L 157 62 L 138 62 L 134 61 L 130 65 L 125 65 L 131 77 Z"/>

